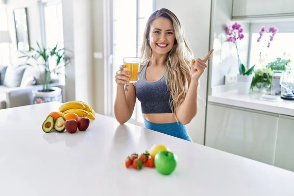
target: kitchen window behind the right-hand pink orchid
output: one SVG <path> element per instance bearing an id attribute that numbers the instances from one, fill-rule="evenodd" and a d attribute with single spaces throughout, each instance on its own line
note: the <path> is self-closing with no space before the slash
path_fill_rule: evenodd
<path id="1" fill-rule="evenodd" d="M 270 44 L 270 48 L 267 47 L 267 43 L 257 42 L 259 38 L 259 31 L 261 26 L 266 26 L 269 29 L 271 26 L 275 26 L 279 29 L 275 34 L 273 41 Z M 275 23 L 275 24 L 252 24 L 251 25 L 251 47 L 250 47 L 250 63 L 249 67 L 256 64 L 257 68 L 266 67 L 270 62 L 276 60 L 278 57 L 282 59 L 290 59 L 294 61 L 294 23 Z M 264 37 L 268 37 L 269 33 L 264 33 Z M 262 45 L 265 45 L 261 53 L 260 63 L 259 53 L 262 49 Z"/>

